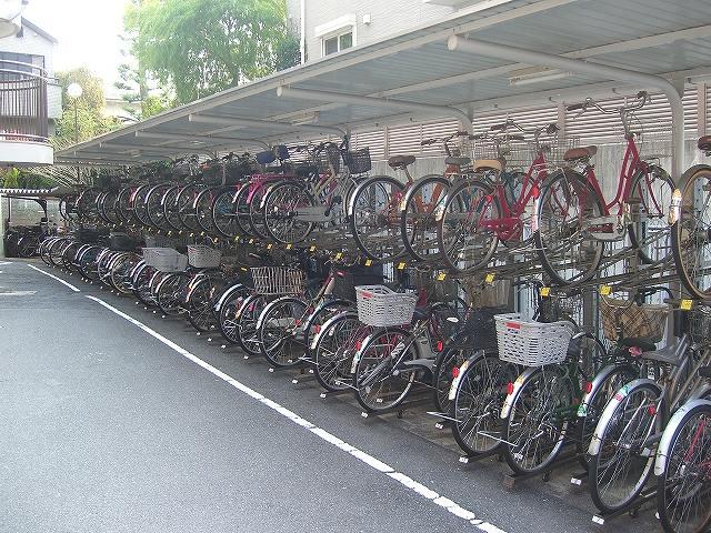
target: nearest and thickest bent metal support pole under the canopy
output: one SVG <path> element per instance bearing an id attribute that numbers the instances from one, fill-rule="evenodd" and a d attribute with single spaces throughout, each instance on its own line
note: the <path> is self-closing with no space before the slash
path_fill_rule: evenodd
<path id="1" fill-rule="evenodd" d="M 672 114 L 672 178 L 679 180 L 685 169 L 684 161 L 684 108 L 682 103 L 683 89 L 659 76 L 645 74 L 634 70 L 591 63 L 581 59 L 563 58 L 552 53 L 537 52 L 508 44 L 474 41 L 459 36 L 449 38 L 447 46 L 450 50 L 458 50 L 507 61 L 522 62 L 541 67 L 551 67 L 564 71 L 598 76 L 615 81 L 627 81 L 642 87 L 660 89 L 669 99 Z"/>

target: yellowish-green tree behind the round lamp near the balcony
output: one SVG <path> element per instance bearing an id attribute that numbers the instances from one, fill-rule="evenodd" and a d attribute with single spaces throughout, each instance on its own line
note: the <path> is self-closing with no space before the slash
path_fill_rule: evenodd
<path id="1" fill-rule="evenodd" d="M 121 125 L 114 119 L 103 115 L 106 99 L 103 82 L 87 68 L 59 72 L 57 74 L 62 88 L 62 115 L 56 122 L 52 142 L 57 148 L 74 144 L 76 140 L 83 141 L 100 135 Z M 67 94 L 71 83 L 79 83 L 82 94 L 74 101 Z M 77 128 L 74 129 L 74 113 Z"/>

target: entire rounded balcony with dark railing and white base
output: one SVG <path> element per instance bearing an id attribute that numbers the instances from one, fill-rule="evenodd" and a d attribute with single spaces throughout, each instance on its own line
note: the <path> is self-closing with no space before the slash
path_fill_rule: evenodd
<path id="1" fill-rule="evenodd" d="M 0 164 L 52 164 L 43 69 L 17 61 L 0 62 Z"/>

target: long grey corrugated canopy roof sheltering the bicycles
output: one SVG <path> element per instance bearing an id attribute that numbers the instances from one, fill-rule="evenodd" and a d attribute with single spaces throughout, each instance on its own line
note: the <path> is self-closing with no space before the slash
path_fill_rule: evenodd
<path id="1" fill-rule="evenodd" d="M 681 90 L 711 76 L 708 0 L 485 0 L 68 148 L 57 162 L 141 162 L 444 117 L 471 125 L 492 109 L 650 89 L 450 50 L 452 36 L 657 74 Z"/>

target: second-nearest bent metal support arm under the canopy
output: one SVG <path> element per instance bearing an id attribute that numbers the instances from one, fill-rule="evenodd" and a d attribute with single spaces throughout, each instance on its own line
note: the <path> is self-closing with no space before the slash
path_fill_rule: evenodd
<path id="1" fill-rule="evenodd" d="M 347 103 L 351 105 L 362 105 L 365 108 L 398 109 L 403 111 L 425 112 L 439 117 L 453 117 L 461 122 L 462 128 L 469 133 L 473 133 L 473 127 L 469 115 L 458 108 L 449 105 L 433 105 L 431 103 L 405 102 L 390 98 L 360 97 L 358 94 L 342 94 L 340 92 L 316 91 L 296 89 L 292 87 L 279 87 L 278 97 L 296 98 L 298 100 L 316 100 L 329 103 Z"/>

